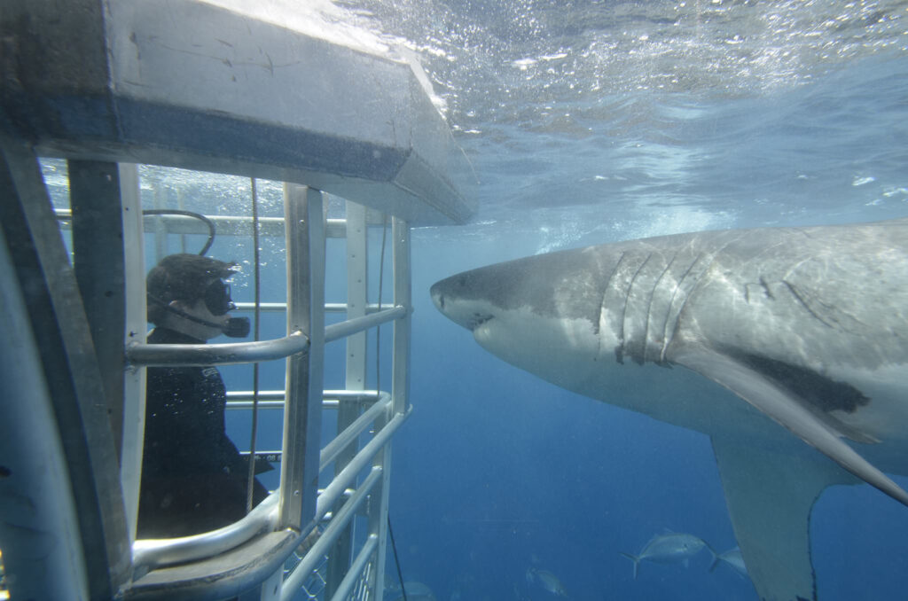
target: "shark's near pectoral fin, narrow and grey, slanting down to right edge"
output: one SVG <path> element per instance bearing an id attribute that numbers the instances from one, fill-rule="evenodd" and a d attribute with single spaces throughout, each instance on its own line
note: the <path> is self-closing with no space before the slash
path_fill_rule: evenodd
<path id="1" fill-rule="evenodd" d="M 671 360 L 731 390 L 854 476 L 908 506 L 908 492 L 845 444 L 839 433 L 804 407 L 800 399 L 759 372 L 703 347 L 675 352 Z"/>

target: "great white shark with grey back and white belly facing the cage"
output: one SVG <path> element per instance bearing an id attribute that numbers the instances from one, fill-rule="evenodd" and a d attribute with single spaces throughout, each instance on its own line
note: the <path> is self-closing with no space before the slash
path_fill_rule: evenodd
<path id="1" fill-rule="evenodd" d="M 908 474 L 908 219 L 557 251 L 431 296 L 518 368 L 706 433 L 765 601 L 816 598 L 824 488 L 863 480 L 908 505 L 885 474 Z"/>

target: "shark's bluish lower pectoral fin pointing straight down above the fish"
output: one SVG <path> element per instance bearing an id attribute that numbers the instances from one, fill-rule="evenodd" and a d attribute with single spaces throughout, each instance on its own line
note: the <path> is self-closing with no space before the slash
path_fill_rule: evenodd
<path id="1" fill-rule="evenodd" d="M 815 599 L 810 511 L 824 488 L 854 480 L 813 453 L 712 440 L 735 538 L 757 595 L 764 601 Z"/>

